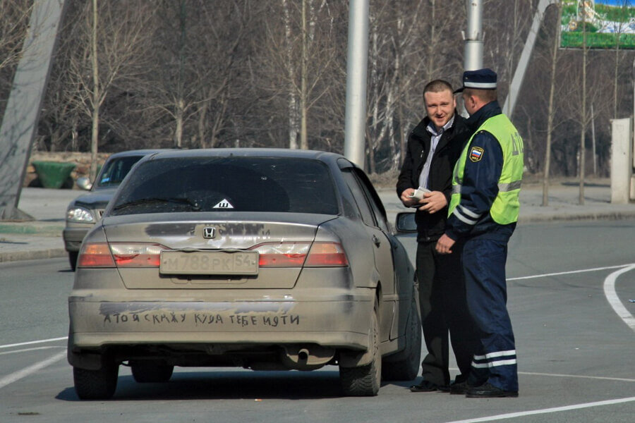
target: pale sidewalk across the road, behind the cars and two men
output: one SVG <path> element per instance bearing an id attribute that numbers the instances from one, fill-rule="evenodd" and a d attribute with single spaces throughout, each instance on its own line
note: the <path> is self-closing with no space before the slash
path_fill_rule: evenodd
<path id="1" fill-rule="evenodd" d="M 0 263 L 27 259 L 66 257 L 61 233 L 66 207 L 81 190 L 23 188 L 18 207 L 35 218 L 28 222 L 0 221 Z M 389 221 L 403 207 L 394 188 L 377 190 Z M 579 183 L 555 181 L 549 188 L 549 205 L 542 207 L 543 186 L 528 182 L 521 190 L 519 224 L 583 219 L 635 219 L 635 204 L 610 204 L 610 180 L 589 180 L 584 188 L 584 205 L 579 205 Z"/>

